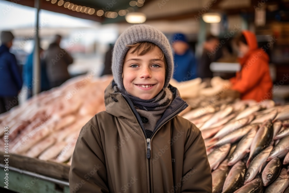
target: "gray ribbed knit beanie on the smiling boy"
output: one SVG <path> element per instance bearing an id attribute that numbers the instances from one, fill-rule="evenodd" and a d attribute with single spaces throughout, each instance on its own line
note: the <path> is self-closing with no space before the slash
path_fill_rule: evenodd
<path id="1" fill-rule="evenodd" d="M 129 27 L 116 40 L 112 54 L 112 74 L 118 89 L 125 90 L 123 86 L 123 60 L 125 54 L 129 50 L 127 45 L 133 45 L 140 42 L 151 42 L 157 45 L 166 58 L 166 80 L 164 88 L 166 88 L 173 75 L 174 61 L 171 45 L 166 36 L 155 27 L 145 24 L 138 24 Z"/>

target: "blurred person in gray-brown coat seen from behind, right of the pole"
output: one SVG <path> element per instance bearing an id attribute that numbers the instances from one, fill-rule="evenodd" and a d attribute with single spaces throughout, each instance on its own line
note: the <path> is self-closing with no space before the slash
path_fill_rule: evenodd
<path id="1" fill-rule="evenodd" d="M 55 35 L 53 42 L 45 52 L 47 76 L 51 88 L 58 87 L 71 78 L 67 67 L 73 63 L 73 58 L 65 49 L 60 48 L 60 41 L 61 36 Z"/>

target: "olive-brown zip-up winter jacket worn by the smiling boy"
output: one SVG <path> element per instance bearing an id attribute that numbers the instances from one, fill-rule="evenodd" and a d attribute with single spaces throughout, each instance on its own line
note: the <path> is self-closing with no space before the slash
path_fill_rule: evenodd
<path id="1" fill-rule="evenodd" d="M 178 116 L 187 107 L 176 88 L 173 101 L 147 139 L 132 102 L 105 90 L 106 111 L 81 129 L 69 173 L 70 192 L 212 192 L 212 174 L 200 130 Z"/>

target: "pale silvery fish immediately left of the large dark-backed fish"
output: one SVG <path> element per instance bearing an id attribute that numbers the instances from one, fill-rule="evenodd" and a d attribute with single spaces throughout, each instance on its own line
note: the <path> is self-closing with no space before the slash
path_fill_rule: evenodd
<path id="1" fill-rule="evenodd" d="M 252 128 L 238 143 L 235 151 L 229 157 L 228 166 L 233 166 L 250 152 L 250 146 L 259 127 Z M 272 147 L 273 148 L 273 147 Z M 271 150 L 270 150 L 271 151 Z M 266 158 L 267 159 L 267 158 Z"/>

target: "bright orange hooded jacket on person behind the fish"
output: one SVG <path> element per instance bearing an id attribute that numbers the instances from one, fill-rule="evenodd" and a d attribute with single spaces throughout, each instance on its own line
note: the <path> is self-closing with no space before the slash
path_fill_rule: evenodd
<path id="1" fill-rule="evenodd" d="M 230 79 L 232 90 L 241 94 L 242 100 L 253 99 L 257 102 L 272 99 L 272 80 L 269 70 L 269 56 L 262 49 L 258 48 L 255 34 L 244 30 L 249 52 L 239 58 L 241 70 L 236 77 Z"/>

